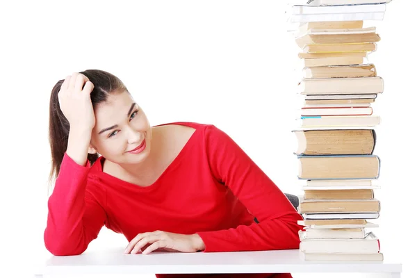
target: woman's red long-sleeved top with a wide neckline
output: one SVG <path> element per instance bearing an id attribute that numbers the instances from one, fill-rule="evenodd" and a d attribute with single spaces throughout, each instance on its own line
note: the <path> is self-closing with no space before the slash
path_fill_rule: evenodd
<path id="1" fill-rule="evenodd" d="M 301 215 L 234 140 L 212 124 L 170 124 L 196 130 L 151 186 L 106 174 L 102 156 L 83 167 L 65 153 L 48 200 L 44 243 L 51 254 L 81 254 L 104 225 L 129 242 L 147 231 L 197 233 L 203 252 L 299 248 Z"/>

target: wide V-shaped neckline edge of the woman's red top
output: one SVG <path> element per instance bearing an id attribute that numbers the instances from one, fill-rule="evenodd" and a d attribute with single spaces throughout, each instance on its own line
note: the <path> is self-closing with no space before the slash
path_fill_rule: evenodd
<path id="1" fill-rule="evenodd" d="M 173 123 L 169 123 L 169 124 L 179 124 L 179 123 L 173 122 Z M 159 124 L 158 126 L 161 126 L 161 125 L 167 125 L 167 124 Z M 186 124 L 179 124 L 179 125 L 188 126 Z M 115 176 L 112 176 L 111 174 L 103 172 L 103 160 L 106 159 L 106 158 L 104 158 L 104 156 L 100 156 L 96 161 L 96 163 L 98 164 L 99 174 L 106 177 L 106 179 L 117 182 L 118 185 L 124 185 L 124 186 L 128 186 L 128 187 L 133 186 L 134 188 L 137 188 L 137 190 L 144 190 L 144 191 L 153 190 L 154 188 L 158 187 L 158 183 L 160 183 L 163 176 L 165 176 L 165 174 L 167 172 L 169 172 L 171 169 L 173 169 L 181 161 L 181 158 L 184 156 L 184 154 L 190 148 L 190 145 L 192 145 L 193 141 L 195 141 L 194 138 L 197 136 L 197 131 L 199 131 L 199 128 L 194 127 L 194 126 L 188 126 L 188 127 L 192 127 L 193 129 L 195 129 L 195 131 L 193 131 L 193 134 L 191 134 L 190 138 L 188 138 L 186 144 L 182 147 L 182 149 L 179 151 L 177 156 L 175 156 L 174 160 L 165 168 L 165 170 L 163 170 L 163 172 L 159 175 L 159 177 L 152 184 L 150 184 L 149 186 L 140 186 L 136 183 L 131 183 L 129 181 L 124 181 L 123 179 L 119 179 Z"/>

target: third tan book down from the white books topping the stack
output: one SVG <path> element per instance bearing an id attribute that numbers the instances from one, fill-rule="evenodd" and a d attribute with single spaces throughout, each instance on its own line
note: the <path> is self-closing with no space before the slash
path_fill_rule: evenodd
<path id="1" fill-rule="evenodd" d="M 332 52 L 365 52 L 370 53 L 377 50 L 375 42 L 360 42 L 348 44 L 306 44 L 302 48 L 304 53 L 332 53 Z"/>

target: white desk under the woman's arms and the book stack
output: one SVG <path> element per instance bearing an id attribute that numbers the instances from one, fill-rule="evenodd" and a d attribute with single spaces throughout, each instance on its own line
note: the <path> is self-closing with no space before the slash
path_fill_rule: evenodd
<path id="1" fill-rule="evenodd" d="M 86 251 L 79 256 L 51 256 L 36 272 L 43 275 L 149 273 L 313 273 L 362 272 L 400 278 L 402 265 L 387 262 L 302 261 L 299 250 L 260 252 L 124 254 L 123 248 Z M 372 275 L 371 275 L 372 276 Z"/>

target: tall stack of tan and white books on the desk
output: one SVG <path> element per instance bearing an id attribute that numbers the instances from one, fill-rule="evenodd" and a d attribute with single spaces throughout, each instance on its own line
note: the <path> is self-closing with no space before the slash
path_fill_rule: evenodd
<path id="1" fill-rule="evenodd" d="M 381 3 L 384 2 L 384 3 Z M 295 42 L 304 63 L 297 138 L 300 254 L 309 261 L 382 261 L 375 198 L 380 159 L 371 106 L 384 82 L 368 54 L 380 37 L 366 20 L 382 20 L 383 0 L 313 0 L 292 6 Z M 371 222 L 370 222 L 371 221 Z"/>

